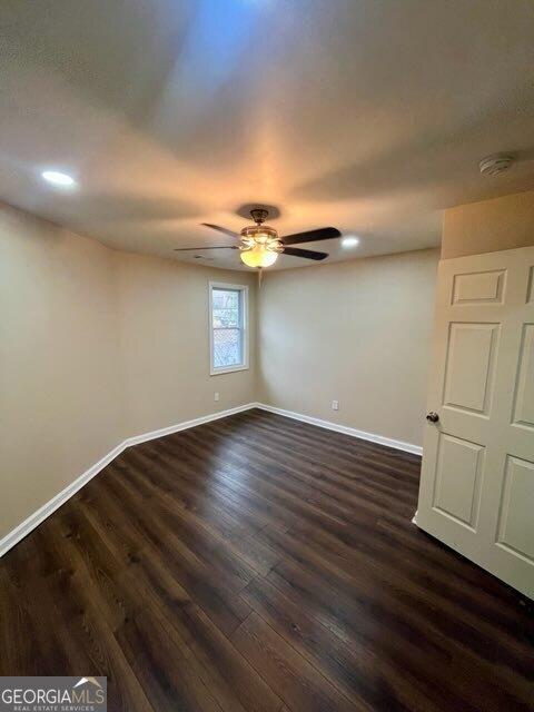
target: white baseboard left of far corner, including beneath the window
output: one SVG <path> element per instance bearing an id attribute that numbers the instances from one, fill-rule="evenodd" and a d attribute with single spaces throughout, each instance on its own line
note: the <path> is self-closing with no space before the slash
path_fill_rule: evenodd
<path id="1" fill-rule="evenodd" d="M 178 423 L 177 425 L 171 425 L 169 427 L 164 427 L 159 431 L 152 431 L 151 433 L 144 433 L 142 435 L 136 435 L 135 437 L 129 437 L 117 447 L 113 447 L 107 455 L 105 455 L 98 463 L 89 467 L 82 475 L 80 475 L 75 482 L 71 482 L 65 490 L 61 490 L 55 497 L 52 497 L 49 502 L 42 505 L 37 512 L 30 514 L 30 516 L 21 522 L 14 530 L 11 530 L 6 536 L 0 540 L 0 556 L 3 556 L 6 552 L 12 548 L 16 544 L 20 542 L 20 540 L 24 538 L 36 526 L 39 526 L 41 522 L 43 522 L 50 514 L 56 512 L 62 504 L 67 502 L 73 494 L 81 490 L 83 485 L 86 485 L 90 479 L 92 479 L 100 471 L 102 471 L 109 463 L 115 459 L 120 453 L 122 453 L 127 447 L 131 445 L 139 445 L 140 443 L 146 443 L 147 441 L 152 441 L 157 437 L 164 437 L 165 435 L 171 435 L 172 433 L 178 433 L 179 431 L 186 431 L 190 427 L 196 427 L 197 425 L 202 425 L 202 423 L 209 423 L 210 421 L 218 421 L 219 418 L 226 418 L 228 415 L 234 415 L 236 413 L 241 413 L 243 411 L 249 411 L 250 408 L 257 407 L 256 403 L 247 403 L 246 405 L 238 406 L 237 408 L 230 408 L 228 411 L 219 411 L 218 413 L 210 413 L 209 415 L 204 415 L 200 418 L 195 418 L 192 421 L 185 421 L 184 423 Z"/>

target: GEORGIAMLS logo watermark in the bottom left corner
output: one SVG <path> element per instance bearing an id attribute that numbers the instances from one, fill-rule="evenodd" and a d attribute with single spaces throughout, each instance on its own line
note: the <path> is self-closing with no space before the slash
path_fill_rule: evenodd
<path id="1" fill-rule="evenodd" d="M 107 678 L 0 678 L 0 712 L 107 709 Z"/>

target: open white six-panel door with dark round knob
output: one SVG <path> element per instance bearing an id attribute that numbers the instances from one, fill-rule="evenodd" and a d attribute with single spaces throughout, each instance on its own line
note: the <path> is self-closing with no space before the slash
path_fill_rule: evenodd
<path id="1" fill-rule="evenodd" d="M 443 260 L 417 526 L 534 597 L 534 247 Z"/>

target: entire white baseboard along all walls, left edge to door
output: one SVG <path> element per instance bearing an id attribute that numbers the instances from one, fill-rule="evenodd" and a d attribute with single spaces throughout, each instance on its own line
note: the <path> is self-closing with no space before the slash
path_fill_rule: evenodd
<path id="1" fill-rule="evenodd" d="M 394 441 L 388 437 L 384 437 L 382 435 L 374 435 L 373 433 L 365 433 L 364 431 L 357 431 L 354 427 L 347 427 L 346 425 L 337 425 L 336 423 L 330 423 L 329 421 L 322 421 L 319 418 L 310 417 L 309 415 L 301 415 L 299 413 L 294 413 L 293 411 L 284 411 L 283 408 L 275 408 L 271 405 L 266 405 L 264 403 L 247 403 L 246 405 L 237 406 L 236 408 L 229 408 L 228 411 L 219 411 L 218 413 L 210 413 L 209 415 L 204 415 L 199 418 L 194 418 L 192 421 L 185 421 L 184 423 L 178 423 L 177 425 L 170 425 L 169 427 L 162 427 L 159 431 L 152 431 L 150 433 L 142 433 L 141 435 L 135 435 L 134 437 L 128 437 L 126 441 L 113 447 L 111 452 L 105 455 L 98 463 L 89 467 L 82 475 L 80 475 L 77 479 L 71 482 L 65 490 L 59 492 L 55 497 L 52 497 L 49 502 L 42 505 L 37 512 L 33 512 L 27 520 L 24 520 L 21 524 L 14 527 L 9 534 L 7 534 L 3 538 L 0 540 L 0 556 L 3 556 L 6 552 L 8 552 L 12 546 L 18 544 L 20 540 L 24 538 L 36 526 L 39 526 L 41 522 L 43 522 L 50 514 L 56 512 L 62 504 L 67 502 L 73 494 L 81 490 L 83 485 L 86 485 L 92 477 L 98 475 L 100 471 L 102 471 L 109 463 L 115 459 L 120 453 L 122 453 L 127 447 L 131 445 L 139 445 L 140 443 L 147 443 L 148 441 L 156 439 L 157 437 L 164 437 L 165 435 L 171 435 L 172 433 L 179 433 L 180 431 L 186 431 L 190 427 L 196 427 L 197 425 L 202 425 L 204 423 L 209 423 L 211 421 L 218 421 L 219 418 L 226 418 L 229 415 L 235 415 L 236 413 L 243 413 L 244 411 L 249 411 L 250 408 L 261 408 L 263 411 L 268 411 L 269 413 L 277 413 L 278 415 L 284 415 L 288 418 L 293 418 L 294 421 L 301 421 L 303 423 L 309 423 L 310 425 L 317 425 L 318 427 L 324 427 L 328 431 L 336 431 L 336 433 L 344 433 L 345 435 L 350 435 L 352 437 L 359 437 L 364 441 L 370 441 L 372 443 L 378 443 L 379 445 L 386 445 L 387 447 L 394 447 L 396 449 L 402 449 L 407 453 L 413 453 L 414 455 L 422 455 L 423 448 L 418 445 L 412 445 L 411 443 L 403 443 L 402 441 Z"/>

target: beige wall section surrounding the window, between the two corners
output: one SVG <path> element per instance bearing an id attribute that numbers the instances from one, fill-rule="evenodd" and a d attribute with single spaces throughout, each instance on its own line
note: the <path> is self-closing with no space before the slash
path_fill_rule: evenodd
<path id="1" fill-rule="evenodd" d="M 255 400 L 256 275 L 126 253 L 116 258 L 130 434 Z M 210 279 L 250 287 L 248 370 L 209 375 Z"/>

